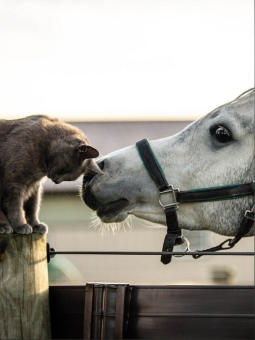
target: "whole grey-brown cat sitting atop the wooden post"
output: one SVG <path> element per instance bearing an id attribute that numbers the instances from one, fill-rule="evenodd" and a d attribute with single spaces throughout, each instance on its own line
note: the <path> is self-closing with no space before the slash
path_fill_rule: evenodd
<path id="1" fill-rule="evenodd" d="M 0 119 L 0 234 L 47 233 L 38 219 L 41 180 L 103 173 L 98 151 L 76 127 L 46 115 Z"/>

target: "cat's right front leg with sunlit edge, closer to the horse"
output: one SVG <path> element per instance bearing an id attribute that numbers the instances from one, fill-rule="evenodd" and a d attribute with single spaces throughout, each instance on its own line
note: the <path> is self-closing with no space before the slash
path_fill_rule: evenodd
<path id="1" fill-rule="evenodd" d="M 46 234 L 48 226 L 45 223 L 41 223 L 38 219 L 40 197 L 40 185 L 38 184 L 34 188 L 32 195 L 25 202 L 24 210 L 27 222 L 33 227 L 33 233 Z"/>

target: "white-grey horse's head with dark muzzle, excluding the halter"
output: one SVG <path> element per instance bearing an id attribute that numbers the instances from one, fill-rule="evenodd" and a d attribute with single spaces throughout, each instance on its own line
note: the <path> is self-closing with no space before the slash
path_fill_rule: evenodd
<path id="1" fill-rule="evenodd" d="M 150 141 L 166 180 L 181 191 L 254 181 L 254 89 L 187 126 L 177 135 Z M 166 225 L 156 184 L 136 146 L 97 161 L 104 174 L 84 176 L 82 198 L 102 222 L 135 215 Z M 178 205 L 180 228 L 236 236 L 254 195 Z M 254 227 L 245 236 L 254 235 Z"/>

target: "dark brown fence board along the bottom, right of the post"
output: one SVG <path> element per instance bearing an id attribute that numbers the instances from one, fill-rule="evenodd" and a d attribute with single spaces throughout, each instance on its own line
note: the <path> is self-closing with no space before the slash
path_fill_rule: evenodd
<path id="1" fill-rule="evenodd" d="M 49 293 L 52 339 L 255 339 L 253 286 L 94 283 Z"/>

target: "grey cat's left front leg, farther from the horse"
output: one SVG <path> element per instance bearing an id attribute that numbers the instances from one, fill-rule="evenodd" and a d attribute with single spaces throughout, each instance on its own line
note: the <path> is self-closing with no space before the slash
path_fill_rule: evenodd
<path id="1" fill-rule="evenodd" d="M 33 229 L 27 223 L 23 211 L 23 192 L 19 187 L 3 190 L 2 208 L 6 217 L 17 234 L 31 234 Z"/>

